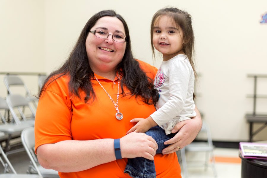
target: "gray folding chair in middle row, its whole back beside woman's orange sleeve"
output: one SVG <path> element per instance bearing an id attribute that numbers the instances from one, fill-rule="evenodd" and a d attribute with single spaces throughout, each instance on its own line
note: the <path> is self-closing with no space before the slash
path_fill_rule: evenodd
<path id="1" fill-rule="evenodd" d="M 24 98 L 23 96 L 20 96 L 20 95 L 8 95 L 6 100 L 7 100 L 7 105 L 9 107 L 9 111 L 11 112 L 15 123 L 17 123 L 18 125 L 34 126 L 35 111 L 31 107 L 31 105 L 29 105 L 26 98 Z M 21 107 L 29 109 L 29 112 L 31 112 L 31 115 L 32 115 L 31 120 L 28 120 L 26 118 Z M 17 109 L 18 113 L 20 114 L 20 117 L 22 118 L 22 120 L 19 119 L 19 117 L 16 113 L 16 109 Z"/>

